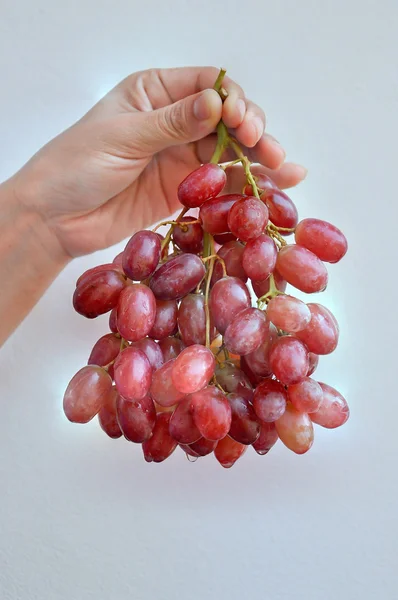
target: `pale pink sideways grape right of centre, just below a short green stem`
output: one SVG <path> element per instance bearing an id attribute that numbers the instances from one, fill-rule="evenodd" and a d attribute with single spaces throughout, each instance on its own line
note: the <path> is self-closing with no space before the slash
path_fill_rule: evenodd
<path id="1" fill-rule="evenodd" d="M 288 333 L 304 329 L 311 321 L 308 306 L 294 296 L 275 296 L 267 306 L 267 318 Z"/>

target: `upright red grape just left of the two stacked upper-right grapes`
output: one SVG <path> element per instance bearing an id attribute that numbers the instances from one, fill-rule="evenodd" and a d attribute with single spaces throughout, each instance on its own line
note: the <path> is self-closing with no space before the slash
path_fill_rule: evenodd
<path id="1" fill-rule="evenodd" d="M 263 233 L 245 247 L 242 264 L 252 281 L 264 281 L 275 269 L 278 252 L 274 240 Z"/>

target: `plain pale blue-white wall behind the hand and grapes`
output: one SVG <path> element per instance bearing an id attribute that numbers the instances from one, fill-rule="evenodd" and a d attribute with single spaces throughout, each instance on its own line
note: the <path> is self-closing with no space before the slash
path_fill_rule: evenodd
<path id="1" fill-rule="evenodd" d="M 106 329 L 72 312 L 74 281 L 116 250 L 75 261 L 0 353 L 1 599 L 395 600 L 396 0 L 0 8 L 0 179 L 138 69 L 224 65 L 264 106 L 309 168 L 302 216 L 349 238 L 322 297 L 341 344 L 319 378 L 352 411 L 305 456 L 279 444 L 231 470 L 182 452 L 148 465 L 68 423 L 64 388 Z"/>

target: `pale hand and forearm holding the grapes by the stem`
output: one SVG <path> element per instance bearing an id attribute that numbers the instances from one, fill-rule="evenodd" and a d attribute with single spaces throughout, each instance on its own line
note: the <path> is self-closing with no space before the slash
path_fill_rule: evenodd
<path id="1" fill-rule="evenodd" d="M 0 345 L 74 257 L 106 248 L 179 208 L 178 184 L 215 148 L 222 118 L 254 172 L 282 189 L 306 169 L 285 162 L 261 108 L 218 69 L 151 69 L 122 81 L 0 185 Z M 223 160 L 231 160 L 226 155 Z M 240 192 L 241 167 L 226 192 Z"/>

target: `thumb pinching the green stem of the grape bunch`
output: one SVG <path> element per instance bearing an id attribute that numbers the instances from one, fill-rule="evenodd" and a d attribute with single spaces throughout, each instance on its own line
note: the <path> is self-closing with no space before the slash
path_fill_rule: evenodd
<path id="1" fill-rule="evenodd" d="M 210 89 L 164 108 L 142 112 L 136 127 L 140 148 L 155 154 L 169 146 L 195 142 L 214 131 L 221 113 L 221 98 Z"/>

